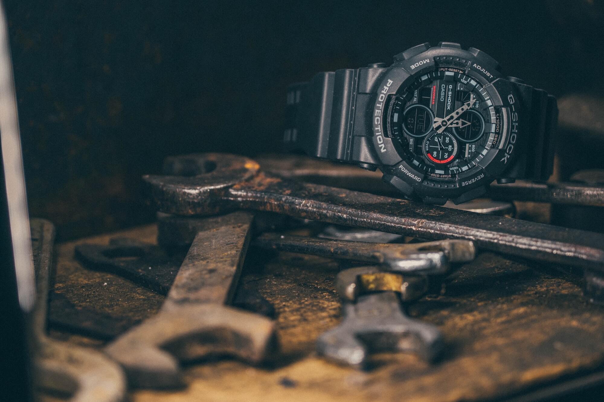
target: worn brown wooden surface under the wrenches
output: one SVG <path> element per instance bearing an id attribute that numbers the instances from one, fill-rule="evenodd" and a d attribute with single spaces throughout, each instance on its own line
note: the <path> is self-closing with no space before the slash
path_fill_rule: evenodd
<path id="1" fill-rule="evenodd" d="M 163 296 L 74 260 L 79 243 L 106 244 L 114 235 L 155 242 L 155 225 L 60 244 L 55 292 L 78 308 L 141 321 Z M 133 401 L 455 401 L 501 398 L 604 362 L 604 309 L 588 305 L 580 277 L 528 267 L 489 253 L 461 267 L 443 288 L 410 306 L 412 316 L 439 325 L 443 359 L 428 365 L 406 354 L 380 354 L 368 371 L 316 357 L 316 337 L 338 324 L 333 279 L 338 262 L 294 254 L 248 253 L 240 286 L 258 290 L 277 310 L 281 353 L 262 368 L 221 360 L 186 369 L 188 387 L 134 391 Z M 51 304 L 51 308 L 53 305 Z M 103 342 L 51 331 L 51 336 L 101 347 Z"/>

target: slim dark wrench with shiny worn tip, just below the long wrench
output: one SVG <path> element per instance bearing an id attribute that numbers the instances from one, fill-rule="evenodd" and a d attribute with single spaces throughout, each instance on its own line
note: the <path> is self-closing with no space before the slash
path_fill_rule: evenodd
<path id="1" fill-rule="evenodd" d="M 182 246 L 206 225 L 199 217 L 162 215 L 158 220 L 158 241 L 165 247 Z M 306 236 L 262 234 L 252 246 L 321 257 L 341 258 L 380 264 L 386 270 L 426 274 L 446 273 L 449 263 L 474 260 L 472 241 L 440 240 L 430 243 L 390 244 L 365 241 L 331 240 Z M 80 249 L 82 252 L 82 249 Z M 144 270 L 143 270 L 144 271 Z"/>

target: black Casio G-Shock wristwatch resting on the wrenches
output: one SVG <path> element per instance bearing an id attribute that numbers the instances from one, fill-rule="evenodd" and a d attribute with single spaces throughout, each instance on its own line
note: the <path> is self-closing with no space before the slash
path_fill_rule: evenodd
<path id="1" fill-rule="evenodd" d="M 390 67 L 321 72 L 289 86 L 284 142 L 379 168 L 408 199 L 442 205 L 479 197 L 493 180 L 547 180 L 556 122 L 556 98 L 505 77 L 483 51 L 424 43 Z"/>

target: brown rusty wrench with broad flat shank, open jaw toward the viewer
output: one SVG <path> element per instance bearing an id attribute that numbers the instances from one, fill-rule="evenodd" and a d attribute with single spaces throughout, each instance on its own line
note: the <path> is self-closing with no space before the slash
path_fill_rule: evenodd
<path id="1" fill-rule="evenodd" d="M 183 384 L 179 362 L 230 354 L 262 362 L 275 348 L 274 323 L 230 303 L 249 244 L 248 212 L 207 219 L 156 316 L 105 349 L 141 388 Z"/>

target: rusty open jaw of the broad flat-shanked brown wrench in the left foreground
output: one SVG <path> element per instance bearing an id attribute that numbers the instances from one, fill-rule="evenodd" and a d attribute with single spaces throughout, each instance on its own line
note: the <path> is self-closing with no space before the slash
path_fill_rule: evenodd
<path id="1" fill-rule="evenodd" d="M 123 366 L 130 386 L 161 389 L 185 385 L 180 362 L 228 355 L 257 365 L 271 359 L 276 349 L 271 319 L 206 303 L 181 305 L 178 314 L 162 311 L 105 352 Z"/>

